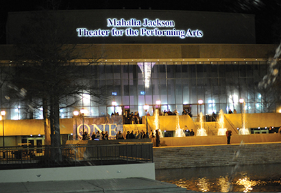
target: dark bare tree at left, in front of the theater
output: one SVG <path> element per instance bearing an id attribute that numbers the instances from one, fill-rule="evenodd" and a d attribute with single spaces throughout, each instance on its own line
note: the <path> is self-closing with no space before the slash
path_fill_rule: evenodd
<path id="1" fill-rule="evenodd" d="M 28 22 L 14 45 L 16 53 L 11 58 L 14 67 L 11 84 L 27 90 L 25 99 L 29 100 L 30 106 L 42 107 L 46 144 L 50 141 L 51 146 L 60 147 L 60 108 L 67 107 L 68 97 L 86 92 L 98 103 L 106 101 L 106 92 L 95 84 L 97 72 L 83 77 L 80 70 L 87 71 L 87 67 L 97 65 L 102 54 L 95 55 L 92 45 L 67 44 L 65 34 L 69 26 L 57 12 L 32 12 Z M 90 58 L 83 63 L 77 62 L 83 57 L 83 51 L 91 53 Z M 77 100 L 81 98 L 73 97 L 72 103 L 67 104 L 74 105 Z M 51 155 L 53 161 L 62 161 L 60 149 Z"/>

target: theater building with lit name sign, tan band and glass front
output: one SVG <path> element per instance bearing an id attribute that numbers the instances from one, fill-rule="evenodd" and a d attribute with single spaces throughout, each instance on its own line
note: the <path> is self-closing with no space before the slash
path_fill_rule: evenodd
<path id="1" fill-rule="evenodd" d="M 73 110 L 82 107 L 88 110 L 88 118 L 110 115 L 114 110 L 144 116 L 145 104 L 150 114 L 156 107 L 180 114 L 188 110 L 193 118 L 199 112 L 208 115 L 235 109 L 240 113 L 241 98 L 248 114 L 280 109 L 280 101 L 265 103 L 268 96 L 258 88 L 276 45 L 256 44 L 254 15 L 164 10 L 68 10 L 56 14 L 69 27 L 65 34 L 69 44 L 93 44 L 97 53 L 104 53 L 104 60 L 92 68 L 117 102 L 115 106 L 112 101 L 99 105 L 85 93 L 79 105 L 60 111 L 62 119 L 72 118 Z M 1 46 L 2 65 L 12 62 L 3 53 L 14 44 L 14 37 L 20 36 L 28 15 L 9 13 L 8 45 Z M 83 66 L 90 52 L 85 51 L 77 62 Z M 9 93 L 2 89 L 5 119 L 27 118 L 25 105 L 5 96 Z M 40 109 L 34 110 L 33 118 L 42 119 Z"/>

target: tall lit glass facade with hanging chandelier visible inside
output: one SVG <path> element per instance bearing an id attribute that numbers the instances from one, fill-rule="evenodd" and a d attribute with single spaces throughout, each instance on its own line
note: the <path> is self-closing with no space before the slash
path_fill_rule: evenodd
<path id="1" fill-rule="evenodd" d="M 60 110 L 61 118 L 73 117 L 73 110 L 84 107 L 88 116 L 106 116 L 112 112 L 138 111 L 145 114 L 143 105 L 149 105 L 152 114 L 156 101 L 161 101 L 161 110 L 178 110 L 188 107 L 193 116 L 201 111 L 204 114 L 219 110 L 241 112 L 239 99 L 245 100 L 247 113 L 276 112 L 278 103 L 265 104 L 258 83 L 267 73 L 267 62 L 103 62 L 80 73 L 85 77 L 98 74 L 95 84 L 107 86 L 106 94 L 112 101 L 98 105 L 84 93 L 76 106 L 66 103 Z M 87 67 L 88 69 L 88 67 Z M 28 92 L 28 91 L 27 91 Z M 14 100 L 11 93 L 1 90 L 1 109 L 6 110 L 7 119 L 27 118 L 27 105 Z M 69 104 L 81 96 L 69 96 Z M 199 105 L 198 100 L 203 104 Z M 32 109 L 33 118 L 42 118 L 42 108 Z"/>

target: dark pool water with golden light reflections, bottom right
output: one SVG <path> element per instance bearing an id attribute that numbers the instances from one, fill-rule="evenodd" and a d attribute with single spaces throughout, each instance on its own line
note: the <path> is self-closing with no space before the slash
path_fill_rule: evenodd
<path id="1" fill-rule="evenodd" d="M 156 180 L 199 192 L 281 192 L 281 164 L 156 170 Z"/>

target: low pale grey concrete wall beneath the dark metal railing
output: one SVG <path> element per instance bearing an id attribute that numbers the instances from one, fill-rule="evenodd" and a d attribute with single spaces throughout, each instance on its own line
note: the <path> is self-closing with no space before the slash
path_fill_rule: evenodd
<path id="1" fill-rule="evenodd" d="M 27 181 L 67 181 L 87 179 L 119 179 L 145 177 L 155 180 L 154 163 L 111 166 L 81 166 L 0 170 L 0 183 Z"/>

